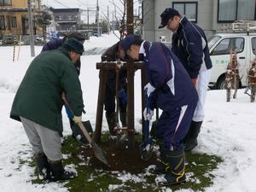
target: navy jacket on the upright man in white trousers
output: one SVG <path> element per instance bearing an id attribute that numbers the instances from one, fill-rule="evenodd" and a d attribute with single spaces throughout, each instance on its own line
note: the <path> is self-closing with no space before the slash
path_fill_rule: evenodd
<path id="1" fill-rule="evenodd" d="M 172 51 L 183 63 L 191 79 L 197 78 L 201 67 L 212 68 L 207 37 L 203 30 L 185 16 L 172 35 Z"/>

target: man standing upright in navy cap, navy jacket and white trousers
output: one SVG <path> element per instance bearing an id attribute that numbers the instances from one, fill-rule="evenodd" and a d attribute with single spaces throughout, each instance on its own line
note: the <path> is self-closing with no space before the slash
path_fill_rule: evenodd
<path id="1" fill-rule="evenodd" d="M 207 37 L 201 27 L 190 22 L 184 15 L 179 15 L 176 9 L 168 8 L 160 17 L 159 28 L 166 26 L 173 32 L 172 51 L 189 73 L 199 96 L 189 132 L 184 139 L 185 151 L 190 151 L 198 144 L 197 137 L 205 117 L 204 104 L 212 68 Z"/>

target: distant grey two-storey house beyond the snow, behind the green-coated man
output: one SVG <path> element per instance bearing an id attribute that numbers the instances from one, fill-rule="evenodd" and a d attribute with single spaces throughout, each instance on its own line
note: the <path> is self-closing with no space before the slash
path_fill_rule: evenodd
<path id="1" fill-rule="evenodd" d="M 53 9 L 56 30 L 60 32 L 78 30 L 81 21 L 81 9 Z"/>

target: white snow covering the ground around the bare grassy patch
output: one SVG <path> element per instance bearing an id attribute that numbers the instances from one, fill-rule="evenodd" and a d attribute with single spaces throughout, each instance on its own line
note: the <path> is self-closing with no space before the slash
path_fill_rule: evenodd
<path id="1" fill-rule="evenodd" d="M 102 50 L 118 39 L 112 35 L 91 38 L 84 43 L 85 50 Z M 36 47 L 38 55 L 42 47 Z M 96 62 L 101 55 L 83 55 L 80 80 L 84 92 L 84 105 L 87 112 L 83 119 L 96 120 L 96 100 L 98 92 L 98 71 Z M 9 112 L 15 91 L 32 61 L 30 48 L 22 46 L 19 61 L 12 61 L 13 47 L 0 47 L 0 191 L 68 191 L 60 183 L 32 184 L 32 168 L 20 166 L 20 160 L 31 160 L 31 146 L 22 125 L 9 119 Z M 140 74 L 135 79 L 136 119 L 140 119 Z M 249 96 L 238 91 L 238 98 L 225 102 L 224 90 L 210 90 L 207 95 L 207 116 L 201 130 L 196 152 L 217 154 L 224 162 L 212 172 L 216 177 L 206 191 L 256 191 L 256 103 L 249 102 Z M 63 115 L 64 135 L 70 134 L 68 120 Z M 136 126 L 138 125 L 136 120 Z M 103 122 L 103 130 L 107 124 Z M 111 185 L 111 183 L 109 183 Z M 167 189 L 168 192 L 172 191 Z M 182 191 L 182 190 L 181 190 Z M 188 191 L 184 190 L 184 191 Z"/>

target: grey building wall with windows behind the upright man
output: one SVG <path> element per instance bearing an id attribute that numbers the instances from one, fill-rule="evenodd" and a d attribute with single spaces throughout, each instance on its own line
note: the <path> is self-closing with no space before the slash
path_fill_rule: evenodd
<path id="1" fill-rule="evenodd" d="M 143 38 L 159 41 L 172 34 L 166 28 L 158 29 L 160 14 L 174 8 L 181 15 L 204 29 L 207 36 L 228 29 L 235 20 L 256 20 L 256 0 L 143 0 Z"/>

